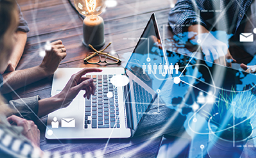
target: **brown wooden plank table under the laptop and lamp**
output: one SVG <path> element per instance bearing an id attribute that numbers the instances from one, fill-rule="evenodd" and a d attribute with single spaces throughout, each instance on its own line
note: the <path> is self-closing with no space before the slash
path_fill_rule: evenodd
<path id="1" fill-rule="evenodd" d="M 83 59 L 90 51 L 82 44 L 83 22 L 72 9 L 67 0 L 18 0 L 23 16 L 28 22 L 30 32 L 19 69 L 25 69 L 40 65 L 42 57 L 39 52 L 44 50 L 46 41 L 62 40 L 67 48 L 67 57 L 61 61 L 60 68 L 101 67 L 99 65 L 84 65 Z M 175 2 L 173 1 L 175 4 Z M 172 3 L 172 4 L 173 4 Z M 128 60 L 129 52 L 132 52 L 146 26 L 151 14 L 155 12 L 158 25 L 162 29 L 166 27 L 165 37 L 171 36 L 167 29 L 169 0 L 117 0 L 117 6 L 107 8 L 101 14 L 105 21 L 105 43 L 112 42 L 107 51 L 115 50 L 122 63 Z M 105 45 L 106 45 L 105 44 Z M 124 66 L 109 65 L 109 66 Z M 37 83 L 25 86 L 16 92 L 20 97 L 40 95 L 41 98 L 51 97 L 51 85 L 53 76 Z M 14 93 L 13 99 L 18 98 Z M 161 108 L 161 107 L 160 107 Z M 156 111 L 152 107 L 152 111 Z M 147 115 L 145 123 L 141 125 L 136 136 L 131 139 L 107 140 L 63 140 L 49 141 L 45 139 L 45 123 L 47 117 L 38 121 L 41 131 L 41 149 L 51 153 L 80 153 L 85 155 L 104 155 L 104 157 L 155 157 L 162 133 L 155 135 L 161 129 L 161 122 L 166 122 L 171 115 L 171 110 L 161 108 L 162 119 Z M 160 123 L 159 123 L 160 122 Z M 150 128 L 148 128 L 150 126 Z M 167 129 L 168 130 L 168 129 Z M 174 131 L 177 129 L 173 128 Z"/>

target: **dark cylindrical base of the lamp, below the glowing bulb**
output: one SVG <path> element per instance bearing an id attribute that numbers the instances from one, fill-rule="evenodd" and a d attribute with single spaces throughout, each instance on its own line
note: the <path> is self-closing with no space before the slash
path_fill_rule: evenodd
<path id="1" fill-rule="evenodd" d="M 83 20 L 83 45 L 88 47 L 92 45 L 94 48 L 104 46 L 104 21 L 102 17 L 85 18 Z"/>

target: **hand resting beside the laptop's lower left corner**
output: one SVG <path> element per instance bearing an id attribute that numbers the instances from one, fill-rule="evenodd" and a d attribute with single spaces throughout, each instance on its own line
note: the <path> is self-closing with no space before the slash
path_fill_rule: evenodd
<path id="1" fill-rule="evenodd" d="M 33 121 L 28 121 L 16 115 L 11 115 L 7 118 L 7 120 L 8 122 L 10 122 L 11 125 L 22 126 L 22 134 L 26 136 L 26 138 L 29 139 L 34 146 L 39 147 L 40 131 L 38 129 L 38 126 L 35 125 Z"/>

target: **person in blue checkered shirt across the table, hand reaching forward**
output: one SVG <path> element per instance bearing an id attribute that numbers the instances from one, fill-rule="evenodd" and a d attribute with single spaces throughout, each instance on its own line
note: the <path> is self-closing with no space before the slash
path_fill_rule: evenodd
<path id="1" fill-rule="evenodd" d="M 239 41 L 242 32 L 256 28 L 255 0 L 177 0 L 169 12 L 169 25 L 173 33 L 193 32 L 190 39 L 200 44 L 205 59 L 231 67 L 235 61 L 226 43 L 218 40 L 211 31 L 224 31 Z M 196 36 L 193 36 L 196 35 Z M 255 34 L 253 35 L 255 36 Z M 241 48 L 253 56 L 256 42 L 241 43 Z M 241 68 L 247 69 L 242 64 Z"/>

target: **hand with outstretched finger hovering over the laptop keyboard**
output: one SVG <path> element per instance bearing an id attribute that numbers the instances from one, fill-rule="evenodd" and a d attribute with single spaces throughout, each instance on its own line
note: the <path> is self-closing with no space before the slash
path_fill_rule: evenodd
<path id="1" fill-rule="evenodd" d="M 83 76 L 89 72 L 102 72 L 102 70 L 98 68 L 84 68 L 72 75 L 64 89 L 54 96 L 60 99 L 61 108 L 67 107 L 80 90 L 85 90 L 83 97 L 87 97 L 87 99 L 90 99 L 91 94 L 95 93 L 96 87 L 93 83 L 93 79 Z"/>

